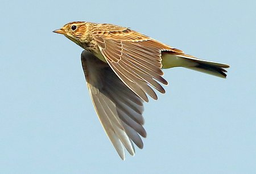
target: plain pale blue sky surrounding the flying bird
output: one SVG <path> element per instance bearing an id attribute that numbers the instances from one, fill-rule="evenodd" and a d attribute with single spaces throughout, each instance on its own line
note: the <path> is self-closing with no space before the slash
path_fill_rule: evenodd
<path id="1" fill-rule="evenodd" d="M 0 173 L 256 173 L 255 1 L 1 0 Z M 53 29 L 131 27 L 207 60 L 228 79 L 165 70 L 148 137 L 125 162 L 94 112 L 82 49 Z"/>

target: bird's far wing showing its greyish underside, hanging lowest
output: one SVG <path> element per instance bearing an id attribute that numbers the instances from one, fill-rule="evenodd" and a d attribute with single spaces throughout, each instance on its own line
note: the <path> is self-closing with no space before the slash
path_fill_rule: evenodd
<path id="1" fill-rule="evenodd" d="M 109 65 L 84 50 L 81 54 L 87 86 L 98 118 L 119 156 L 125 159 L 123 146 L 135 154 L 133 142 L 143 148 L 143 100 L 131 91 Z"/>

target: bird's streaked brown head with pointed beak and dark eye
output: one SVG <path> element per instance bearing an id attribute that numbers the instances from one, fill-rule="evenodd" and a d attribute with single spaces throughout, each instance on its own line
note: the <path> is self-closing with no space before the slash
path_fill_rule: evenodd
<path id="1" fill-rule="evenodd" d="M 72 40 L 77 45 L 84 43 L 89 35 L 86 22 L 71 22 L 65 24 L 62 28 L 53 31 L 62 34 Z"/>

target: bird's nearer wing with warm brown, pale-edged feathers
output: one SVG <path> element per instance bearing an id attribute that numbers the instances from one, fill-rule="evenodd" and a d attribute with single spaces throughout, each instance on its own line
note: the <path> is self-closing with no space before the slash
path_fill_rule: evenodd
<path id="1" fill-rule="evenodd" d="M 115 74 L 144 101 L 148 101 L 146 94 L 157 99 L 151 87 L 165 92 L 159 84 L 167 84 L 162 77 L 162 51 L 183 53 L 129 28 L 95 31 L 93 38 Z"/>

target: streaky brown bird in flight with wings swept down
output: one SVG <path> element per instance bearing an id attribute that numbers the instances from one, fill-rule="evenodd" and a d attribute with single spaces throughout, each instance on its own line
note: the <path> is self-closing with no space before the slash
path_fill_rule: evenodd
<path id="1" fill-rule="evenodd" d="M 143 148 L 144 102 L 157 100 L 168 82 L 163 69 L 185 67 L 226 78 L 229 65 L 185 54 L 129 27 L 70 22 L 53 31 L 84 50 L 82 69 L 94 109 L 115 150 L 125 160 L 125 148 L 135 155 Z"/>

